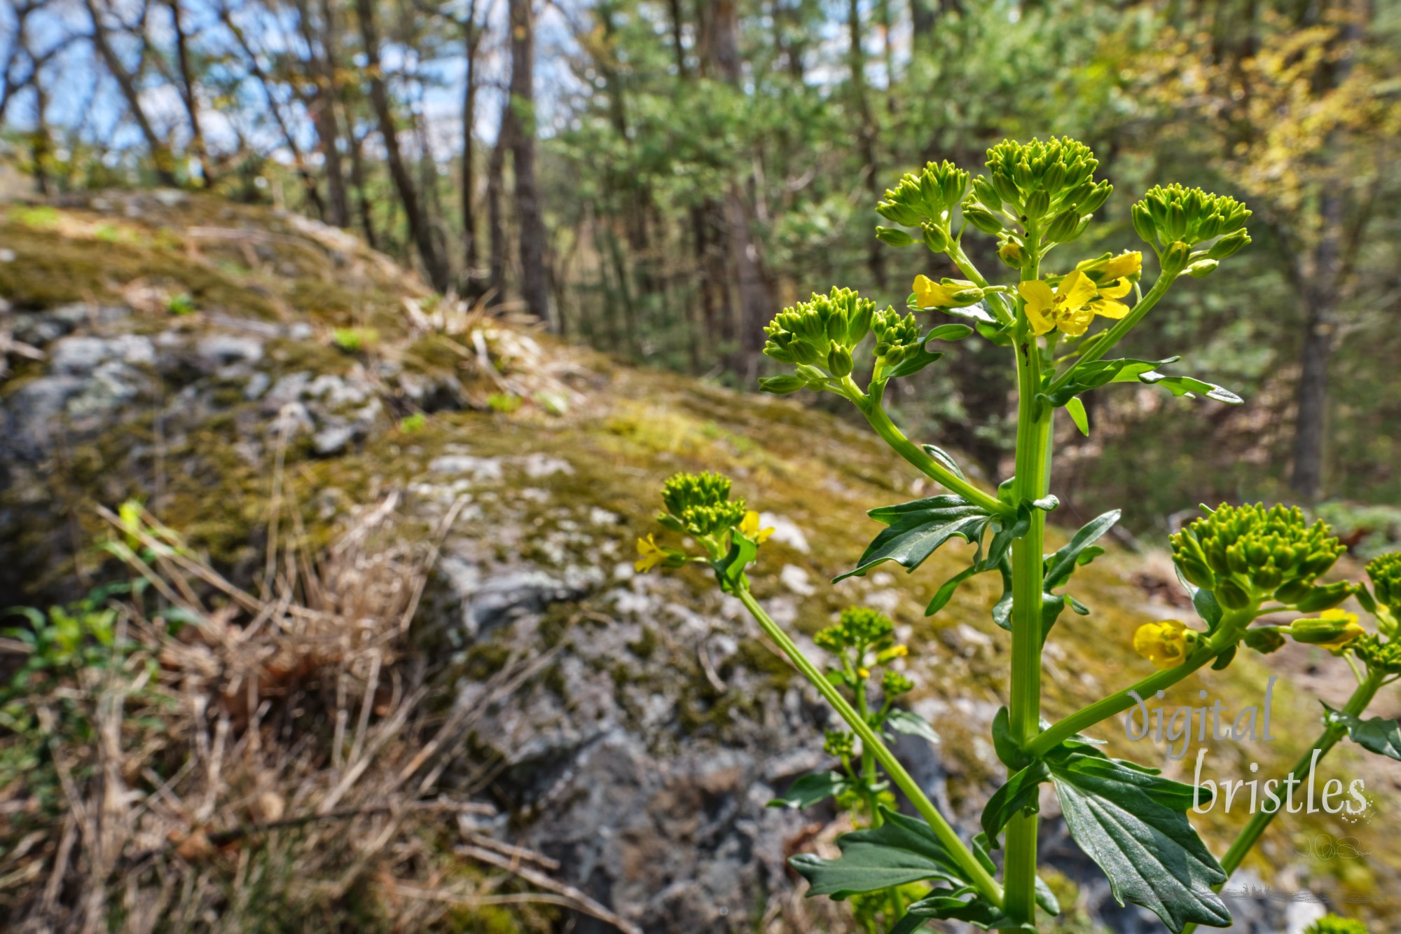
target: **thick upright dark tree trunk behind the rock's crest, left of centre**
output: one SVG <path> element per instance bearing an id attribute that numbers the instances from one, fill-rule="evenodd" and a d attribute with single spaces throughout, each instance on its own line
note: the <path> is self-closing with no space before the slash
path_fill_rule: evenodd
<path id="1" fill-rule="evenodd" d="M 525 309 L 549 321 L 549 265 L 545 217 L 535 184 L 535 13 L 531 0 L 510 0 L 511 84 L 509 116 L 516 213 L 520 217 L 521 297 Z"/>

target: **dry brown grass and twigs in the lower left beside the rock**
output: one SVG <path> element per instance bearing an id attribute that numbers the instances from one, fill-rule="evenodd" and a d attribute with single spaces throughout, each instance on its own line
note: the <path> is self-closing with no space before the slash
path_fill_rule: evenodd
<path id="1" fill-rule="evenodd" d="M 511 658 L 485 704 L 443 701 L 409 641 L 436 544 L 396 534 L 391 496 L 308 554 L 298 510 L 279 533 L 276 487 L 258 595 L 137 506 L 102 512 L 136 582 L 91 607 L 109 663 L 31 672 L 0 731 L 6 930 L 488 930 L 503 913 L 532 930 L 560 907 L 636 930 L 474 829 L 492 763 L 464 740 L 551 656 Z"/>

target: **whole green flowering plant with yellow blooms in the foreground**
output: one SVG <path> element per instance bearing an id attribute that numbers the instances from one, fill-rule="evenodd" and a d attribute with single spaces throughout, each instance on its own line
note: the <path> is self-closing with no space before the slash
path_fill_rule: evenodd
<path id="1" fill-rule="evenodd" d="M 800 854 L 792 865 L 807 878 L 810 895 L 853 899 L 867 931 L 883 926 L 887 934 L 911 934 L 940 919 L 1038 930 L 1041 916 L 1058 910 L 1037 875 L 1042 783 L 1055 787 L 1070 836 L 1108 875 L 1115 898 L 1147 907 L 1171 931 L 1227 926 L 1230 912 L 1216 891 L 1268 818 L 1257 815 L 1217 861 L 1188 822 L 1194 788 L 1107 757 L 1083 731 L 1203 665 L 1230 665 L 1243 644 L 1257 652 L 1324 648 L 1358 673 L 1358 693 L 1344 710 L 1325 711 L 1311 753 L 1349 736 L 1379 754 L 1401 757 L 1394 724 L 1360 719 L 1373 696 L 1401 679 L 1401 644 L 1393 641 L 1401 617 L 1401 557 L 1369 565 L 1372 589 L 1325 581 L 1345 551 L 1342 543 L 1327 524 L 1282 505 L 1223 503 L 1171 536 L 1173 560 L 1201 621 L 1145 621 L 1122 634 L 1156 670 L 1054 724 L 1042 721 L 1041 654 L 1072 625 L 1056 628 L 1065 610 L 1091 613 L 1072 592 L 1075 574 L 1103 553 L 1094 543 L 1119 517 L 1112 510 L 1091 519 L 1047 554 L 1047 513 L 1058 505 L 1058 412 L 1089 432 L 1083 397 L 1118 383 L 1159 386 L 1188 400 L 1241 401 L 1220 386 L 1166 372 L 1177 358 L 1110 353 L 1174 283 L 1215 273 L 1250 243 L 1250 210 L 1195 188 L 1150 189 L 1131 209 L 1135 233 L 1156 258 L 1157 272 L 1145 290 L 1147 251 L 1121 245 L 1097 257 L 1052 258 L 1083 234 L 1112 192 L 1094 177 L 1097 168 L 1094 154 L 1072 139 L 1006 140 L 988 150 L 986 174 L 976 177 L 947 161 L 929 163 L 885 192 L 877 212 L 891 226 L 877 227 L 876 236 L 899 248 L 922 243 L 953 268 L 916 276 L 905 313 L 877 310 L 856 292 L 834 287 L 785 309 L 766 328 L 764 352 L 783 370 L 762 379 L 761 388 L 848 400 L 891 449 L 944 489 L 873 509 L 870 517 L 881 529 L 842 576 L 864 575 L 885 561 L 916 571 L 957 539 L 971 547 L 971 560 L 937 588 L 926 613 L 939 613 L 974 575 L 996 572 L 1002 581 L 992 621 L 1009 634 L 1010 670 L 992 743 L 1007 781 L 981 816 L 982 833 L 961 839 L 887 742 L 894 732 L 937 740 L 927 724 L 899 707 L 915 679 L 904 670 L 909 648 L 895 642 L 892 620 L 852 607 L 814 638 L 829 656 L 825 670 L 808 659 L 750 590 L 747 575 L 761 560 L 765 530 L 715 474 L 678 475 L 663 491 L 661 524 L 689 536 L 703 554 L 657 544 L 651 536 L 639 540 L 639 569 L 708 564 L 720 588 L 744 604 L 842 719 L 822 743 L 835 766 L 804 776 L 775 804 L 804 808 L 835 799 L 852 812 L 859 829 L 838 839 L 839 858 Z M 1000 265 L 1014 271 L 1010 282 L 991 280 L 968 258 L 962 238 L 969 234 L 995 238 Z M 891 380 L 916 379 L 972 334 L 1007 348 L 1017 380 L 1014 473 L 995 492 L 971 482 L 943 449 L 906 438 L 884 404 Z M 1374 627 L 1341 606 L 1352 596 Z M 1274 621 L 1282 613 L 1297 618 Z M 918 818 L 892 809 L 895 791 Z M 1000 881 L 989 857 L 995 848 L 1003 850 Z"/>

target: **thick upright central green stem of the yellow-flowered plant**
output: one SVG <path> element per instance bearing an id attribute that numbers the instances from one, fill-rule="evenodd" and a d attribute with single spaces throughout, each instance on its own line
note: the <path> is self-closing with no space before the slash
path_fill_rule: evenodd
<path id="1" fill-rule="evenodd" d="M 1040 237 L 1027 230 L 1027 245 L 1037 255 Z M 1021 280 L 1040 276 L 1038 264 L 1021 269 Z M 1014 331 L 1017 353 L 1017 459 L 1014 501 L 1027 502 L 1047 495 L 1049 487 L 1049 407 L 1037 401 L 1041 391 L 1041 346 L 1017 314 Z M 1041 597 L 1045 512 L 1031 510 L 1027 534 L 1012 543 L 1012 683 L 1007 712 L 1012 735 L 1028 743 L 1041 722 Z M 1037 815 L 1017 813 L 1007 823 L 1007 860 L 1003 872 L 1007 889 L 1005 910 L 1017 923 L 1035 923 Z"/>

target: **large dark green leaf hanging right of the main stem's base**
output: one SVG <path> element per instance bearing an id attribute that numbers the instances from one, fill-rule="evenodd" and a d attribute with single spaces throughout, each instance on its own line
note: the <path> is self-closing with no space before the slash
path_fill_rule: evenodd
<path id="1" fill-rule="evenodd" d="M 1212 892 L 1226 874 L 1187 820 L 1192 785 L 1080 752 L 1048 762 L 1066 827 L 1119 905 L 1142 905 L 1173 931 L 1188 921 L 1230 924 Z"/>

